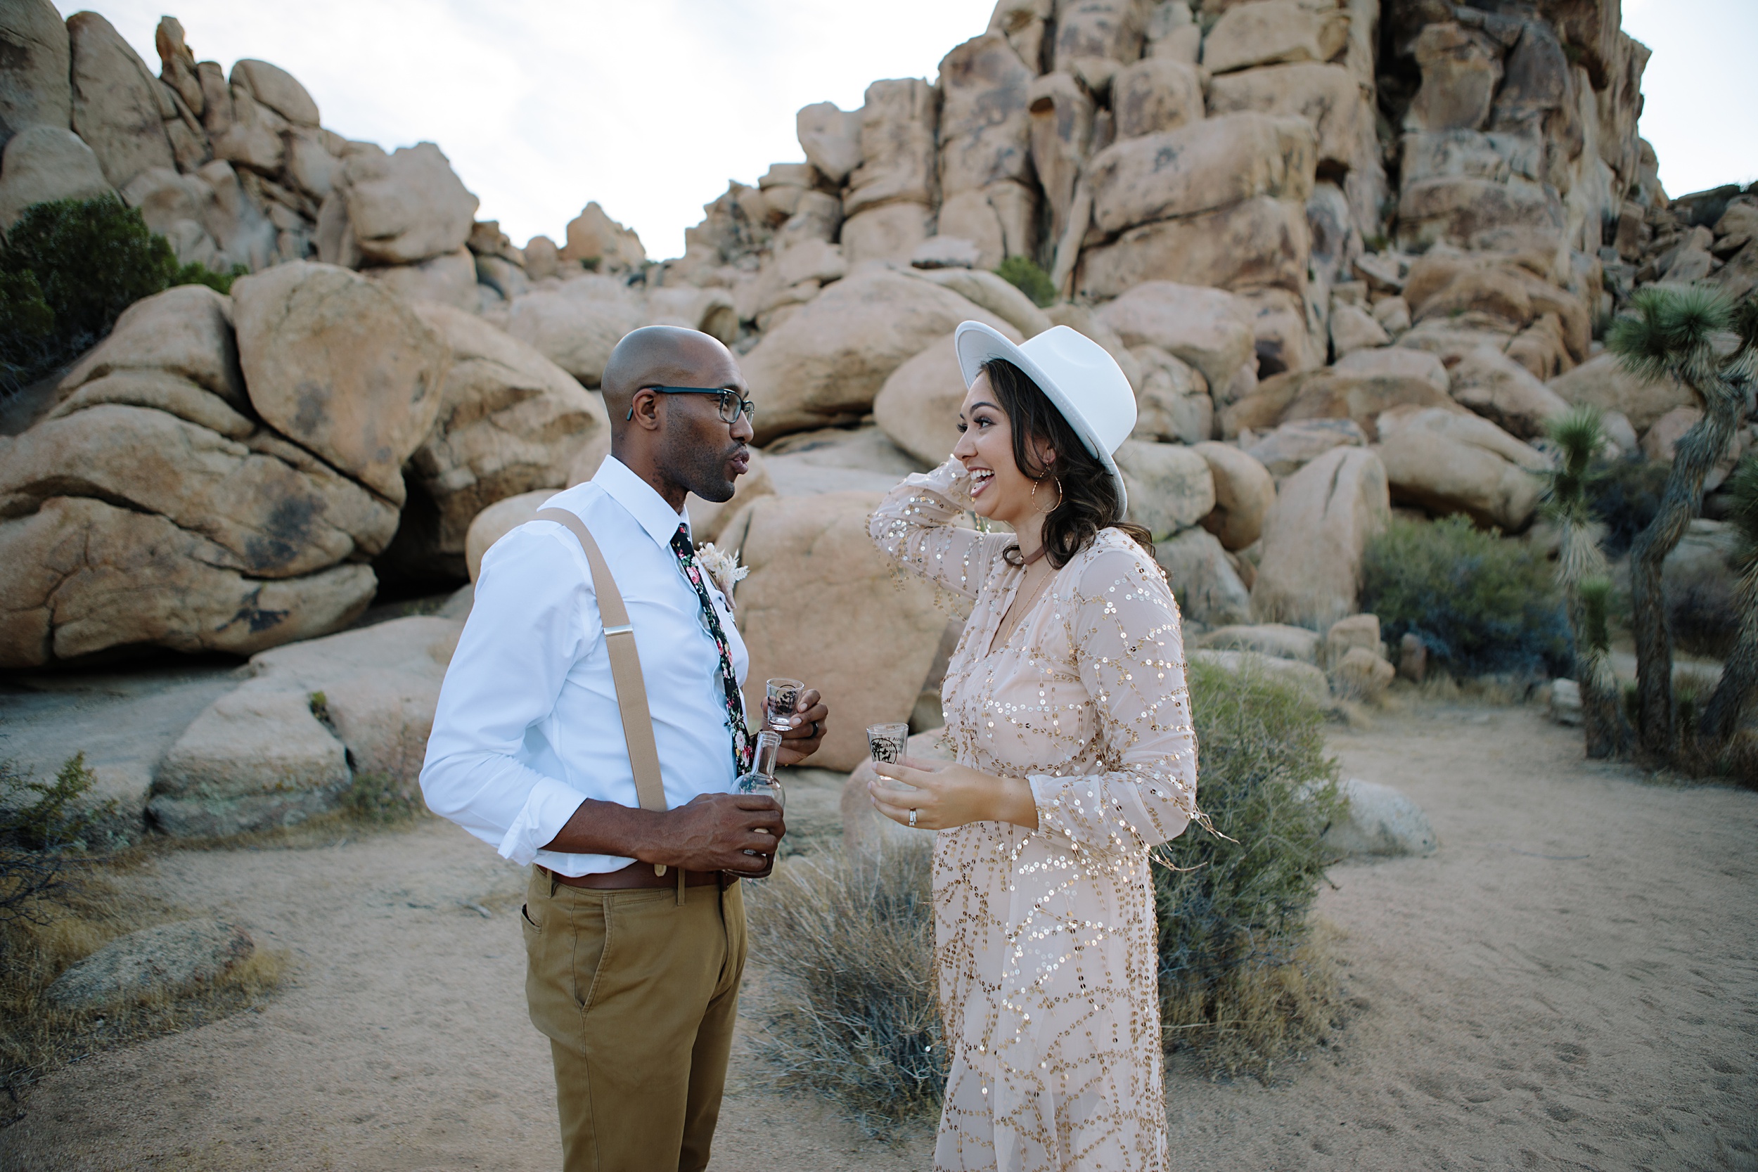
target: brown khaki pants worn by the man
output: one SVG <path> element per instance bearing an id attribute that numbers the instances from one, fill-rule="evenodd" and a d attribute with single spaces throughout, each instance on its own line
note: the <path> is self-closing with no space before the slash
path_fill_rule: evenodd
<path id="1" fill-rule="evenodd" d="M 700 1172 L 745 968 L 738 884 L 596 891 L 531 870 L 526 1000 L 550 1040 L 564 1172 Z"/>

